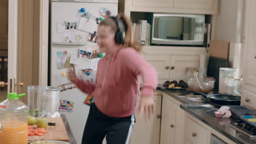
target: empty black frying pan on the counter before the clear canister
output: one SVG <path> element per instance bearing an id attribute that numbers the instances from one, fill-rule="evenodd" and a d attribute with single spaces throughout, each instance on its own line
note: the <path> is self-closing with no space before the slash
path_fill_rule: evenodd
<path id="1" fill-rule="evenodd" d="M 240 105 L 241 97 L 228 94 L 211 94 L 210 101 L 218 105 Z"/>

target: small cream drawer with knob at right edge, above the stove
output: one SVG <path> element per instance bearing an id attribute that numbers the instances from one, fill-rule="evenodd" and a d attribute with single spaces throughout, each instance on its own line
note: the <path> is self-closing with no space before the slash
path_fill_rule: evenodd
<path id="1" fill-rule="evenodd" d="M 242 97 L 241 97 L 241 105 L 243 106 L 249 106 L 252 109 L 256 109 L 256 94 L 243 91 Z"/>

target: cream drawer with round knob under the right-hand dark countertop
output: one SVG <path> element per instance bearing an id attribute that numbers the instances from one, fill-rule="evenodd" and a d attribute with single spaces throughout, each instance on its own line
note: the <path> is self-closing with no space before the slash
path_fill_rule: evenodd
<path id="1" fill-rule="evenodd" d="M 199 124 L 192 121 L 190 118 L 187 117 L 186 121 L 186 139 L 189 140 L 191 143 L 197 144 L 205 144 L 207 143 L 207 130 L 201 127 Z"/>

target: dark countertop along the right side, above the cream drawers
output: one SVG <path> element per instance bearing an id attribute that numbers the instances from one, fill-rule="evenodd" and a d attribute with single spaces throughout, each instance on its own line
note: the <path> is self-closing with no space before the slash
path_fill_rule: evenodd
<path id="1" fill-rule="evenodd" d="M 256 140 L 252 140 L 245 134 L 240 133 L 240 131 L 230 127 L 230 123 L 235 122 L 234 118 L 215 117 L 214 111 L 217 111 L 219 107 L 208 104 L 206 101 L 200 100 L 200 98 L 186 98 L 184 97 L 185 95 L 194 95 L 187 91 L 170 91 L 162 86 L 159 86 L 158 89 L 170 95 L 170 97 L 180 101 L 182 103 L 181 109 L 209 125 L 220 134 L 228 137 L 230 140 L 243 144 L 256 143 Z"/>

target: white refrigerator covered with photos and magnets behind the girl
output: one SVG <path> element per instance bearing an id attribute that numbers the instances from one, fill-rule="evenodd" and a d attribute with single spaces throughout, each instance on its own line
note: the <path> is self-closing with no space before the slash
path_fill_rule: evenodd
<path id="1" fill-rule="evenodd" d="M 89 42 L 88 38 L 95 34 L 98 22 L 105 16 L 117 15 L 118 0 L 52 0 L 50 4 L 50 85 L 61 87 L 61 100 L 73 102 L 73 111 L 60 113 L 66 115 L 75 140 L 81 143 L 90 107 L 84 104 L 87 95 L 67 84 L 67 63 L 72 57 L 72 62 L 77 64 L 77 73 L 79 69 L 91 67 L 90 59 L 79 58 L 79 51 L 96 46 L 95 39 Z"/>

